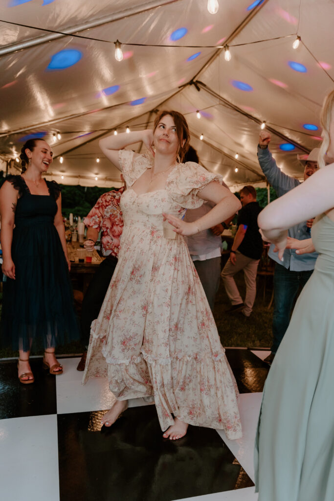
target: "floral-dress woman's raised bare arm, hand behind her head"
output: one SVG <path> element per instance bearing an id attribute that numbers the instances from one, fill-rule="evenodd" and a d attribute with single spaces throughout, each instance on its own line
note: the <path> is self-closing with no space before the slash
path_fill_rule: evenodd
<path id="1" fill-rule="evenodd" d="M 115 165 L 115 167 L 121 170 L 118 158 L 119 150 L 125 148 L 126 146 L 130 146 L 130 144 L 138 143 L 140 141 L 143 141 L 147 149 L 150 150 L 154 155 L 152 149 L 153 131 L 150 129 L 129 133 L 123 132 L 122 134 L 117 134 L 117 136 L 112 134 L 111 136 L 100 139 L 99 146 L 105 156 Z"/>

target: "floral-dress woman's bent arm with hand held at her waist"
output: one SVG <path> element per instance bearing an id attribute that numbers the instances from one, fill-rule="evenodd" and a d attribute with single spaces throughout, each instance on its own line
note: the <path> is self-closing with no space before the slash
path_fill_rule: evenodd
<path id="1" fill-rule="evenodd" d="M 232 214 L 241 209 L 238 198 L 225 186 L 221 186 L 218 181 L 211 181 L 201 191 L 198 197 L 203 200 L 215 203 L 212 209 L 202 217 L 193 222 L 182 221 L 172 214 L 163 216 L 175 227 L 176 233 L 181 235 L 194 235 L 199 231 L 211 228 L 221 221 L 225 221 Z"/>

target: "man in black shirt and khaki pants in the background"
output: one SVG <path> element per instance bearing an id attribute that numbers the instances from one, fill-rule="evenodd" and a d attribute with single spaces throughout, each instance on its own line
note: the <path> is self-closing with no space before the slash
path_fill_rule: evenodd
<path id="1" fill-rule="evenodd" d="M 256 201 L 256 191 L 253 186 L 245 186 L 240 190 L 242 209 L 238 214 L 238 230 L 232 243 L 230 258 L 227 261 L 221 278 L 232 307 L 228 313 L 242 312 L 249 317 L 256 296 L 256 272 L 262 254 L 262 238 L 258 230 L 257 216 L 261 211 Z M 243 270 L 246 283 L 246 296 L 242 302 L 234 275 Z"/>

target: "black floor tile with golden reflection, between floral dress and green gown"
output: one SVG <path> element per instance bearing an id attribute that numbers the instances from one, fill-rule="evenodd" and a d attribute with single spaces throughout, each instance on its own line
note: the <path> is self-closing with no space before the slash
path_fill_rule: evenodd
<path id="1" fill-rule="evenodd" d="M 226 348 L 226 358 L 231 366 L 240 393 L 263 391 L 269 366 L 249 350 Z"/>

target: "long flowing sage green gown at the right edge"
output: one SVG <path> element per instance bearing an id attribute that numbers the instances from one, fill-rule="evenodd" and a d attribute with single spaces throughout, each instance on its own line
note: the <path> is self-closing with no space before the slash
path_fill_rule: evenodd
<path id="1" fill-rule="evenodd" d="M 270 368 L 255 441 L 258 501 L 334 499 L 334 222 L 318 216 L 319 256 Z"/>

